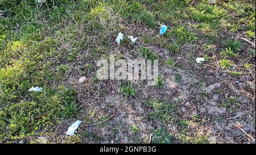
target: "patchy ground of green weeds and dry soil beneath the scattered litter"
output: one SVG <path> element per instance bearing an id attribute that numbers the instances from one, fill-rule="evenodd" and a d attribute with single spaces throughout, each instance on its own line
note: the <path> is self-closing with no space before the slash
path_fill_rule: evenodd
<path id="1" fill-rule="evenodd" d="M 0 142 L 255 143 L 254 3 L 0 0 Z M 110 54 L 157 58 L 158 85 L 98 80 Z"/>

